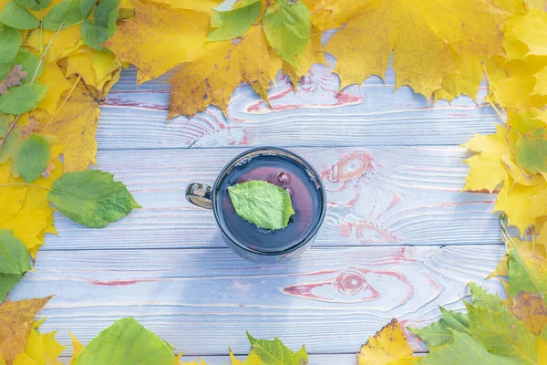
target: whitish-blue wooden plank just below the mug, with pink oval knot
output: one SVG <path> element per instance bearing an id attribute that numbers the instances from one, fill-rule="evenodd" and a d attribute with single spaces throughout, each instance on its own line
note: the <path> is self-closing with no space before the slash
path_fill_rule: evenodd
<path id="1" fill-rule="evenodd" d="M 439 306 L 463 309 L 470 281 L 499 290 L 483 278 L 503 254 L 503 245 L 312 248 L 260 266 L 226 248 L 40 251 L 11 298 L 57 293 L 40 312 L 43 329 L 69 328 L 84 343 L 132 316 L 191 355 L 244 353 L 246 330 L 351 353 L 393 317 L 423 326 Z"/>

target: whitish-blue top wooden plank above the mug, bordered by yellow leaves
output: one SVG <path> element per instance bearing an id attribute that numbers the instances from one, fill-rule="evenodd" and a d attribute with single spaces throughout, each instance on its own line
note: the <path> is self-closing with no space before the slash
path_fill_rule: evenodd
<path id="1" fill-rule="evenodd" d="M 295 95 L 279 77 L 270 89 L 272 110 L 246 86 L 236 89 L 227 117 L 213 107 L 169 123 L 166 81 L 172 73 L 136 88 L 135 69 L 124 70 L 103 104 L 98 148 L 458 145 L 473 133 L 495 132 L 495 113 L 467 97 L 431 106 L 407 87 L 394 91 L 392 69 L 385 84 L 373 77 L 339 92 L 331 69 L 315 65 Z"/>

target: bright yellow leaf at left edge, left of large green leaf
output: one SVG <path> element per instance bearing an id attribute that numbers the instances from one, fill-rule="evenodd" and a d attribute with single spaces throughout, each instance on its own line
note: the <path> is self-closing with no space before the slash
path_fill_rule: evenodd
<path id="1" fill-rule="evenodd" d="M 10 185 L 25 181 L 10 176 L 9 162 L 0 165 L 0 206 L 10 207 L 0 210 L 0 222 L 4 229 L 14 231 L 15 237 L 26 245 L 33 258 L 36 258 L 37 249 L 44 244 L 44 235 L 56 234 L 53 210 L 47 201 L 47 193 L 57 178 L 63 174 L 63 164 L 58 159 L 62 150 L 63 146 L 51 147 L 50 163 L 53 168 L 46 169 L 46 172 L 33 182 L 42 188 Z"/>

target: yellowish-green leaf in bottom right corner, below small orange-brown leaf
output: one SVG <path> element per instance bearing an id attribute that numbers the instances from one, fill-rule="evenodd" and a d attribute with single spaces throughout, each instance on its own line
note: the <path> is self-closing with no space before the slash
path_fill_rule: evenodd
<path id="1" fill-rule="evenodd" d="M 526 326 L 507 308 L 492 311 L 466 303 L 470 333 L 490 353 L 518 360 L 516 364 L 537 363 L 536 340 Z"/>

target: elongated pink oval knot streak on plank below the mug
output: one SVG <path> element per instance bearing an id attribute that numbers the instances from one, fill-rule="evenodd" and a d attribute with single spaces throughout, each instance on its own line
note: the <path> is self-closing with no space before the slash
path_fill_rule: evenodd
<path id="1" fill-rule="evenodd" d="M 324 279 L 325 275 L 327 277 Z M 414 287 L 408 278 L 396 271 L 348 268 L 342 271 L 322 271 L 308 276 L 321 277 L 317 277 L 316 282 L 284 287 L 281 292 L 293 297 L 330 303 L 360 303 L 390 297 L 393 294 L 388 293 L 390 288 L 398 287 L 399 292 L 391 302 L 396 306 L 406 303 L 414 293 Z M 387 286 L 386 283 L 390 285 Z M 401 295 L 401 287 L 406 287 L 406 295 Z"/>

